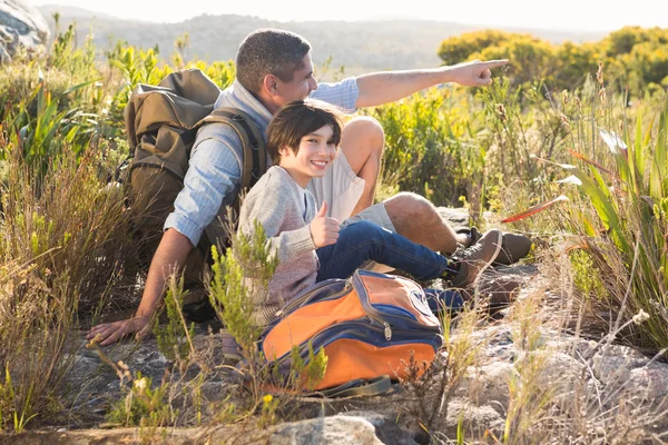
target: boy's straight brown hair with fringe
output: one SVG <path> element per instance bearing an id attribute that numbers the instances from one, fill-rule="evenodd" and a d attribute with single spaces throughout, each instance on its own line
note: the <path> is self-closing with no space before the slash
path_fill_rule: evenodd
<path id="1" fill-rule="evenodd" d="M 302 138 L 325 126 L 332 127 L 332 142 L 338 147 L 343 123 L 332 106 L 313 99 L 293 100 L 283 106 L 267 127 L 267 152 L 272 162 L 278 165 L 279 150 L 284 147 L 297 154 Z"/>

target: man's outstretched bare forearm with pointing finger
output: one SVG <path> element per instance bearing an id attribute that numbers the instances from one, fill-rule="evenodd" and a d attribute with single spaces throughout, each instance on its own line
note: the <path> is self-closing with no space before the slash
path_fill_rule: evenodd
<path id="1" fill-rule="evenodd" d="M 357 78 L 360 95 L 357 108 L 393 102 L 414 92 L 440 83 L 455 82 L 465 87 L 492 83 L 491 68 L 502 67 L 508 60 L 459 63 L 432 69 L 372 72 Z"/>

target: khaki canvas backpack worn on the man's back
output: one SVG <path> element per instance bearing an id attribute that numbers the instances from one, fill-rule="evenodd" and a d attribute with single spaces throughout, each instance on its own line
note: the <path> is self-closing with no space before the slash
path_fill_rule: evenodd
<path id="1" fill-rule="evenodd" d="M 138 234 L 154 238 L 153 243 L 147 241 L 153 251 L 184 187 L 190 150 L 202 126 L 226 123 L 239 136 L 244 148 L 240 191 L 252 187 L 267 169 L 259 129 L 236 108 L 214 110 L 219 93 L 220 89 L 204 72 L 187 69 L 168 75 L 157 86 L 139 85 L 125 109 L 125 126 L 134 154 L 126 172 L 130 208 Z M 237 195 L 233 205 L 237 212 L 238 206 Z M 229 245 L 227 215 L 227 209 L 220 208 L 205 229 L 198 246 L 205 255 L 213 244 Z"/>

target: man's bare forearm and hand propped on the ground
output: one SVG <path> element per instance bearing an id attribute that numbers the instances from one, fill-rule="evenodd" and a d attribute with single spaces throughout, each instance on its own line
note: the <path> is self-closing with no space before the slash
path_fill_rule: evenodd
<path id="1" fill-rule="evenodd" d="M 171 271 L 183 267 L 191 248 L 193 245 L 185 235 L 175 229 L 165 231 L 150 263 L 141 303 L 135 316 L 125 320 L 94 326 L 86 338 L 97 337 L 101 346 L 107 346 L 129 334 L 137 333 L 138 337 L 146 335 L 150 330 L 151 317 L 163 298 L 167 277 Z"/>

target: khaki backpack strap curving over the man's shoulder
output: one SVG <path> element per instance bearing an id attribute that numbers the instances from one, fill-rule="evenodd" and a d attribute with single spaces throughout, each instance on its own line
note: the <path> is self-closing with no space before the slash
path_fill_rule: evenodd
<path id="1" fill-rule="evenodd" d="M 253 187 L 259 177 L 267 171 L 267 150 L 259 128 L 247 113 L 232 107 L 216 108 L 202 120 L 202 123 L 212 122 L 227 123 L 239 136 L 244 149 L 242 190 Z"/>

